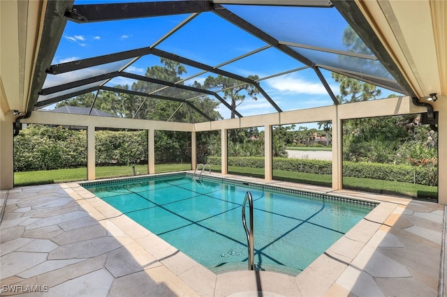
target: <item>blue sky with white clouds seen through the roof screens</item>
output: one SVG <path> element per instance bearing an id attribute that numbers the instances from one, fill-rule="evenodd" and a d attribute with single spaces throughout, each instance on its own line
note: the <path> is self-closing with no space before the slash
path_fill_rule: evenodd
<path id="1" fill-rule="evenodd" d="M 75 4 L 78 3 L 81 2 L 75 2 Z M 92 2 L 89 1 L 88 3 Z M 233 13 L 244 17 L 252 24 L 264 29 L 277 40 L 312 45 L 313 47 L 325 47 L 332 50 L 346 50 L 346 46 L 342 43 L 342 33 L 348 25 L 335 8 L 225 7 Z M 189 15 L 170 15 L 87 24 L 67 22 L 52 63 L 77 61 L 92 56 L 152 46 L 168 31 L 185 20 L 186 17 L 189 17 Z M 226 22 L 214 13 L 201 13 L 172 36 L 156 45 L 156 48 L 214 67 L 251 51 L 261 49 L 266 45 L 263 40 L 251 36 L 251 34 Z M 300 53 L 306 52 L 300 48 L 294 49 Z M 320 63 L 325 63 L 329 66 L 337 66 L 340 63 L 346 64 L 346 61 L 342 61 L 339 55 L 307 50 L 307 52 L 309 51 L 310 54 L 316 56 Z M 98 75 L 118 70 L 127 62 L 120 61 L 94 69 L 57 75 L 57 78 L 51 77 L 47 79 L 44 88 L 68 82 L 73 77 L 80 79 L 93 75 L 93 73 Z M 358 66 L 361 67 L 360 70 L 370 71 L 373 75 L 376 74 L 376 71 L 381 70 L 376 65 L 371 66 L 372 64 L 367 60 L 361 61 L 361 64 L 362 66 Z M 125 71 L 145 75 L 146 68 L 154 65 L 160 65 L 159 57 L 152 55 L 143 56 L 126 68 Z M 258 75 L 258 77 L 263 78 L 276 73 L 303 68 L 304 66 L 304 64 L 279 50 L 269 47 L 244 59 L 221 66 L 221 69 L 243 77 Z M 182 78 L 200 72 L 199 69 L 190 66 L 185 67 L 186 73 L 182 75 Z M 356 65 L 352 67 L 356 67 Z M 330 71 L 322 69 L 322 73 L 328 81 L 332 92 L 335 95 L 339 94 L 339 86 L 331 78 Z M 208 75 L 211 74 L 205 73 L 204 75 L 194 77 L 184 84 L 192 83 L 194 80 L 203 82 Z M 132 82 L 134 82 L 132 79 L 117 77 L 112 79 L 107 85 L 131 85 Z M 333 104 L 320 79 L 318 79 L 314 70 L 310 68 L 270 79 L 263 79 L 260 85 L 283 111 Z M 388 94 L 395 92 L 383 90 L 382 93 L 383 98 L 386 98 Z M 258 95 L 257 98 L 258 100 L 256 101 L 247 98 L 237 107 L 237 111 L 242 116 L 276 112 L 274 107 L 262 95 Z M 219 106 L 218 111 L 224 119 L 230 117 L 230 111 L 223 105 Z"/>

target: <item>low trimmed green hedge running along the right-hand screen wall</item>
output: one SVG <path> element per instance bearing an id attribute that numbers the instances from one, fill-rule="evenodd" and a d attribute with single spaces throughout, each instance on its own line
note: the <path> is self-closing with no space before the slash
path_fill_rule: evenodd
<path id="1" fill-rule="evenodd" d="M 221 165 L 220 157 L 207 157 L 210 165 Z M 229 157 L 228 166 L 264 168 L 263 157 Z M 332 174 L 332 161 L 273 158 L 272 169 L 309 174 Z M 437 167 L 343 162 L 343 176 L 437 185 Z"/>

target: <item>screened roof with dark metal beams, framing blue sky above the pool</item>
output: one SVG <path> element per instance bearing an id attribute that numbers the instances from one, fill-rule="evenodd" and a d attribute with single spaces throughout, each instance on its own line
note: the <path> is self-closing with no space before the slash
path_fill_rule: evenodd
<path id="1" fill-rule="evenodd" d="M 412 95 L 350 1 L 245 2 L 52 3 L 61 38 L 29 104 L 198 123 L 353 101 L 335 73 Z"/>

